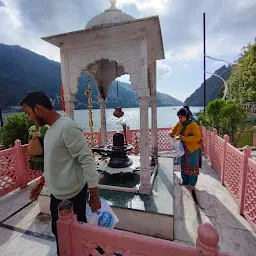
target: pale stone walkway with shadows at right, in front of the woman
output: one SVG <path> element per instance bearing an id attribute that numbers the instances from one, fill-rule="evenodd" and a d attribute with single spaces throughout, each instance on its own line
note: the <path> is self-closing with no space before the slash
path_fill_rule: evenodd
<path id="1" fill-rule="evenodd" d="M 238 207 L 227 189 L 220 184 L 219 175 L 203 162 L 197 190 L 193 195 L 178 186 L 180 172 L 174 177 L 175 240 L 195 243 L 197 228 L 210 222 L 220 235 L 220 250 L 241 256 L 256 255 L 256 233 L 238 214 Z"/>

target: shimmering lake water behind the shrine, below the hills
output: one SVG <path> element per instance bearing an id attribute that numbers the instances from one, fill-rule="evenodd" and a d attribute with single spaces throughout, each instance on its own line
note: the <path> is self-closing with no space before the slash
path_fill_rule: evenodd
<path id="1" fill-rule="evenodd" d="M 180 109 L 178 107 L 158 107 L 157 108 L 157 122 L 158 128 L 172 127 L 178 121 L 177 111 Z M 191 112 L 199 112 L 203 107 L 190 107 Z M 123 108 L 124 116 L 120 118 L 119 121 L 125 121 L 126 124 L 132 130 L 139 129 L 140 126 L 140 110 L 139 108 Z M 115 131 L 120 130 L 122 127 L 118 123 L 118 119 L 113 116 L 114 109 L 106 109 L 106 119 L 107 119 L 107 130 Z M 59 113 L 64 114 L 59 111 Z M 5 120 L 6 116 L 13 115 L 15 113 L 3 113 L 3 118 Z M 75 120 L 82 126 L 84 131 L 89 131 L 88 124 L 88 110 L 75 110 Z M 100 130 L 100 110 L 93 109 L 93 122 L 94 131 Z M 149 128 L 151 128 L 151 108 L 149 108 Z"/>

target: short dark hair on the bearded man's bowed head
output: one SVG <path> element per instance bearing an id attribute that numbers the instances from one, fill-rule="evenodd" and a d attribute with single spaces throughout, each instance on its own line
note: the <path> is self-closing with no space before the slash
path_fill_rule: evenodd
<path id="1" fill-rule="evenodd" d="M 50 99 L 42 91 L 30 92 L 21 102 L 20 105 L 28 105 L 32 109 L 35 108 L 35 105 L 41 105 L 48 110 L 53 109 L 53 105 Z"/>

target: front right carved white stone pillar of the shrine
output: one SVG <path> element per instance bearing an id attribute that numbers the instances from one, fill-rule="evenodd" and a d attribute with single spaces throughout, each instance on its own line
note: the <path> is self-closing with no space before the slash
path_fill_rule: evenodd
<path id="1" fill-rule="evenodd" d="M 151 171 L 148 137 L 148 97 L 139 98 L 140 106 L 140 193 L 150 194 Z"/>

